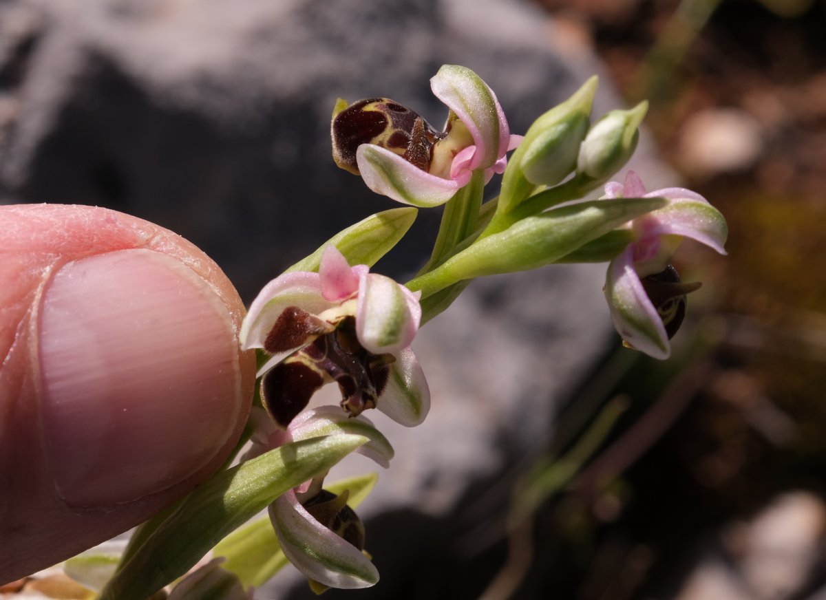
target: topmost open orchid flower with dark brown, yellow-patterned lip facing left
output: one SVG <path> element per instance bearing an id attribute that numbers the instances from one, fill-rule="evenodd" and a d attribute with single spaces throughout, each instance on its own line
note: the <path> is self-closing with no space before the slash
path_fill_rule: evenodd
<path id="1" fill-rule="evenodd" d="M 360 174 L 377 194 L 413 206 L 439 206 L 482 170 L 485 182 L 505 171 L 510 135 L 490 87 L 472 70 L 444 65 L 430 87 L 448 106 L 444 132 L 389 98 L 335 106 L 331 135 L 339 167 Z"/>

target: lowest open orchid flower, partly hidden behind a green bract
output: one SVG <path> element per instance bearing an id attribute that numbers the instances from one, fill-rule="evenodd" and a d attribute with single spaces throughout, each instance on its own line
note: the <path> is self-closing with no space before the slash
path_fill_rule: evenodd
<path id="1" fill-rule="evenodd" d="M 363 415 L 348 418 L 335 406 L 306 410 L 279 429 L 253 407 L 254 454 L 311 437 L 358 433 L 368 438 L 356 452 L 382 467 L 393 457 L 387 438 Z M 348 494 L 336 496 L 322 488 L 324 475 L 287 491 L 269 505 L 269 517 L 284 555 L 311 582 L 316 593 L 326 588 L 366 588 L 378 581 L 378 571 L 364 552 L 362 522 L 347 505 Z"/>

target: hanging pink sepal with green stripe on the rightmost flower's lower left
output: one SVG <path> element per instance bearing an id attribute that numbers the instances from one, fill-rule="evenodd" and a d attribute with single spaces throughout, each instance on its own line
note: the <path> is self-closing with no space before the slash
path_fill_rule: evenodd
<path id="1" fill-rule="evenodd" d="M 629 246 L 610 262 L 605 300 L 624 341 L 649 357 L 664 360 L 671 353 L 666 328 L 634 271 L 633 252 Z"/>

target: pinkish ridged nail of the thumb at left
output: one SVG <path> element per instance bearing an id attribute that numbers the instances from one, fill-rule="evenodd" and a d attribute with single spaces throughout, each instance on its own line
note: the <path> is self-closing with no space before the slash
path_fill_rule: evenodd
<path id="1" fill-rule="evenodd" d="M 66 503 L 167 489 L 228 441 L 241 410 L 235 331 L 177 259 L 132 249 L 69 262 L 40 310 L 45 446 Z"/>

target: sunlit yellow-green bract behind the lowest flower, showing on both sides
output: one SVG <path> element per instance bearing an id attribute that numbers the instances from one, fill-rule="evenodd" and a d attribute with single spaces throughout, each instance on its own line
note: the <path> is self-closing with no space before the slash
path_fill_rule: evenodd
<path id="1" fill-rule="evenodd" d="M 367 498 L 377 480 L 378 475 L 371 473 L 325 484 L 324 488 L 336 495 L 348 489 L 347 504 L 350 508 L 356 508 Z M 226 561 L 221 567 L 235 573 L 244 586 L 263 585 L 289 562 L 278 545 L 269 517 L 256 519 L 233 531 L 215 547 L 212 554 L 225 556 Z"/>

